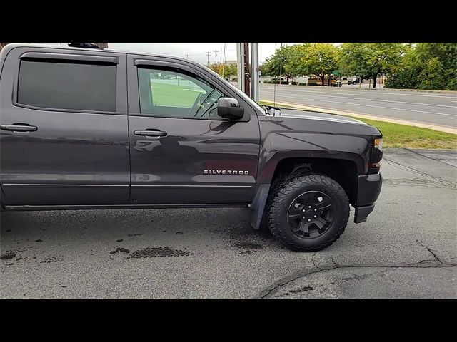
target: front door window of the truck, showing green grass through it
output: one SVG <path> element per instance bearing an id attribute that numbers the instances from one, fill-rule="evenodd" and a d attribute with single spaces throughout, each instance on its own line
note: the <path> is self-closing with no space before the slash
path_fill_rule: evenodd
<path id="1" fill-rule="evenodd" d="M 153 116 L 219 118 L 224 96 L 206 81 L 178 71 L 138 69 L 141 113 Z"/>

